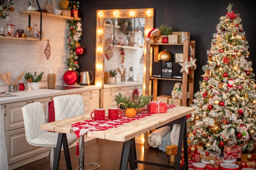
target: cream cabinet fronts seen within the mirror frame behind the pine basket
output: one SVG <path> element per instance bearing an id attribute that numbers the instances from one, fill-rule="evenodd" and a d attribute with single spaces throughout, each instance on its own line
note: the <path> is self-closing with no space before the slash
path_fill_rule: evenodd
<path id="1" fill-rule="evenodd" d="M 105 109 L 110 108 L 110 107 L 116 108 L 117 107 L 117 102 L 115 101 L 116 95 L 121 93 L 122 96 L 126 96 L 128 98 L 128 97 L 132 96 L 133 91 L 136 88 L 139 91 L 139 95 L 141 95 L 143 93 L 142 85 L 104 88 L 103 108 L 105 108 Z"/>

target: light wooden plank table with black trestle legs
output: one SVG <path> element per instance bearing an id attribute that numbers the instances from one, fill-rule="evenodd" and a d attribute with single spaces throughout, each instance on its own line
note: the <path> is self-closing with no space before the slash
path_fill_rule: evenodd
<path id="1" fill-rule="evenodd" d="M 159 113 L 152 115 L 150 117 L 145 117 L 144 119 L 140 119 L 137 121 L 132 121 L 123 126 L 119 126 L 117 128 L 111 130 L 104 131 L 89 131 L 87 132 L 88 137 L 96 137 L 99 139 L 107 139 L 111 141 L 121 141 L 123 142 L 122 156 L 120 161 L 119 170 L 127 170 L 128 162 L 130 165 L 130 170 L 135 170 L 137 168 L 137 163 L 144 163 L 153 166 L 162 166 L 167 168 L 173 168 L 175 170 L 188 170 L 188 150 L 184 149 L 184 165 L 180 167 L 180 158 L 182 152 L 182 141 L 184 148 L 187 147 L 187 132 L 186 132 L 186 115 L 195 111 L 195 108 L 185 107 L 185 106 L 176 106 L 175 108 L 167 110 L 167 113 Z M 63 150 L 65 155 L 65 161 L 68 170 L 72 170 L 69 149 L 67 146 L 67 138 L 66 133 L 74 133 L 71 124 L 74 124 L 79 121 L 83 121 L 85 119 L 91 119 L 89 114 L 72 117 L 69 119 L 63 119 L 59 121 L 53 121 L 47 124 L 40 125 L 40 129 L 49 130 L 58 132 L 58 143 L 56 147 L 56 154 L 54 157 L 54 170 L 58 169 L 59 158 L 61 154 L 61 147 L 63 144 Z M 180 119 L 180 137 L 179 137 L 179 145 L 177 151 L 177 160 L 175 166 L 167 165 L 167 164 L 159 164 L 153 162 L 139 161 L 136 158 L 136 149 L 135 149 L 135 140 L 136 136 L 139 136 L 145 132 L 168 124 L 175 119 Z M 84 168 L 84 141 L 83 136 L 79 137 L 79 152 L 80 170 Z"/>

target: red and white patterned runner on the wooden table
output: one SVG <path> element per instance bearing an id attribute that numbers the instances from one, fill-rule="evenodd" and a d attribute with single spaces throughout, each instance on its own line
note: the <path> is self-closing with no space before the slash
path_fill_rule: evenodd
<path id="1" fill-rule="evenodd" d="M 175 105 L 167 104 L 167 110 L 175 107 L 176 107 Z M 128 124 L 132 121 L 143 119 L 144 117 L 148 117 L 155 114 L 157 113 L 148 113 L 147 110 L 144 110 L 141 113 L 138 113 L 137 115 L 135 115 L 135 117 L 133 118 L 128 118 L 126 117 L 125 114 L 120 114 L 117 120 L 109 120 L 108 116 L 106 115 L 105 120 L 94 121 L 94 119 L 87 119 L 87 120 L 72 124 L 71 127 L 73 128 L 76 136 L 80 137 L 88 131 L 110 130 L 112 128 L 116 128 L 124 124 Z M 158 114 L 164 114 L 164 113 L 158 113 Z"/>

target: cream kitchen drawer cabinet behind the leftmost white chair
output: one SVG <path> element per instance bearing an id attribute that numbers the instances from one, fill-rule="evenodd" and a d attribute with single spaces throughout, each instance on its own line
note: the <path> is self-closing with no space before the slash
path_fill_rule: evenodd
<path id="1" fill-rule="evenodd" d="M 27 143 L 22 116 L 23 106 L 32 102 L 40 102 L 45 111 L 46 121 L 48 121 L 49 101 L 50 98 L 45 97 L 1 105 L 2 112 L 5 115 L 7 159 L 10 170 L 34 161 L 35 157 L 42 159 L 49 153 L 49 148 L 31 146 Z"/>

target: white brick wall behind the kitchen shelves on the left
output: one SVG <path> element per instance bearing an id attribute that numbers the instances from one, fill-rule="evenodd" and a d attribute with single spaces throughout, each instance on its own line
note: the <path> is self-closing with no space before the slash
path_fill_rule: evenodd
<path id="1" fill-rule="evenodd" d="M 59 0 L 53 0 L 53 8 L 59 9 Z M 15 32 L 17 29 L 24 29 L 28 26 L 28 15 L 20 14 L 19 11 L 27 9 L 26 0 L 13 0 L 14 12 L 9 15 L 9 20 L 15 25 Z M 41 9 L 44 9 L 45 0 L 38 0 Z M 36 1 L 35 1 L 36 3 Z M 1 19 L 0 19 L 1 20 Z M 2 20 L 7 24 L 7 20 Z M 31 15 L 31 27 L 34 24 L 40 26 L 40 17 Z M 66 20 L 43 18 L 42 31 L 44 33 L 43 39 L 49 39 L 51 46 L 51 55 L 49 60 L 45 56 L 45 47 L 47 41 L 27 41 L 27 40 L 7 40 L 0 39 L 0 73 L 11 71 L 11 83 L 22 73 L 26 72 L 43 74 L 42 86 L 47 86 L 47 73 L 54 70 L 56 73 L 56 80 L 63 82 L 63 74 L 67 71 L 67 26 Z M 24 77 L 24 76 L 23 76 Z M 22 78 L 20 82 L 27 83 Z M 6 83 L 0 79 L 0 87 L 6 86 Z"/>

